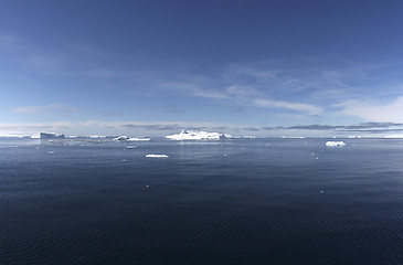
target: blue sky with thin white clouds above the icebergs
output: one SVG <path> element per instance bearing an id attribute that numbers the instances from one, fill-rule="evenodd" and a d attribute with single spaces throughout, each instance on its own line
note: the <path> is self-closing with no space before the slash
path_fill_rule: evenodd
<path id="1" fill-rule="evenodd" d="M 402 1 L 0 3 L 0 135 L 403 135 Z"/>

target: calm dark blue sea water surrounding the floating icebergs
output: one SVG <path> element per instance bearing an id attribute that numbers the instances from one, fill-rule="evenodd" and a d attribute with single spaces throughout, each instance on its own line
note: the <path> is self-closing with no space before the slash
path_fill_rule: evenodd
<path id="1" fill-rule="evenodd" d="M 1 139 L 0 264 L 403 264 L 403 140 L 344 141 Z"/>

